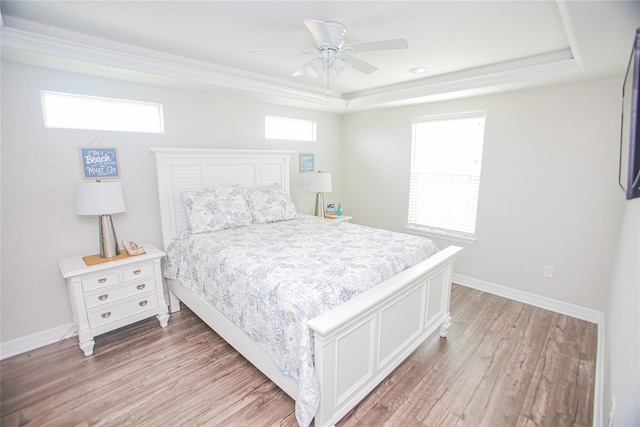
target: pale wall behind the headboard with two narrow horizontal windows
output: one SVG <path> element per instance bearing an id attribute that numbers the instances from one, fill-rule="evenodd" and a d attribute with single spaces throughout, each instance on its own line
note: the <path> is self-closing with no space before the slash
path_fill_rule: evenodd
<path id="1" fill-rule="evenodd" d="M 127 211 L 114 215 L 119 239 L 161 247 L 154 159 L 149 147 L 293 149 L 292 197 L 313 213 L 314 195 L 298 173 L 299 151 L 316 154 L 316 170 L 340 168 L 341 117 L 225 97 L 2 63 L 2 342 L 72 321 L 61 258 L 98 252 L 97 219 L 74 212 L 82 180 L 79 147 L 94 138 L 117 147 Z M 40 90 L 159 102 L 165 134 L 46 129 Z M 266 141 L 264 116 L 316 120 L 318 141 Z M 340 176 L 335 176 L 336 183 Z M 339 184 L 327 201 L 340 197 Z"/>

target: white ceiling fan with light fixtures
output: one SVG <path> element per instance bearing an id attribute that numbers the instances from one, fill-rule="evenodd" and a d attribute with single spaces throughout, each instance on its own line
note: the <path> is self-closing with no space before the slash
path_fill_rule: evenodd
<path id="1" fill-rule="evenodd" d="M 306 74 L 319 79 L 324 74 L 328 84 L 335 81 L 336 78 L 346 77 L 351 69 L 356 69 L 364 74 L 371 74 L 378 69 L 350 56 L 353 53 L 406 49 L 408 47 L 405 39 L 345 44 L 347 27 L 344 24 L 315 19 L 305 19 L 304 24 L 313 36 L 314 49 L 251 49 L 250 52 L 300 52 L 307 55 L 318 55 L 294 71 L 293 75 Z"/>

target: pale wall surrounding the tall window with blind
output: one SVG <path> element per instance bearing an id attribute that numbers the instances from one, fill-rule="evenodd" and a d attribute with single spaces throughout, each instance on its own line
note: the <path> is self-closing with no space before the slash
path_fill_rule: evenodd
<path id="1" fill-rule="evenodd" d="M 477 242 L 456 273 L 603 312 L 623 208 L 620 87 L 608 78 L 346 116 L 345 210 L 402 231 L 411 119 L 486 111 Z"/>

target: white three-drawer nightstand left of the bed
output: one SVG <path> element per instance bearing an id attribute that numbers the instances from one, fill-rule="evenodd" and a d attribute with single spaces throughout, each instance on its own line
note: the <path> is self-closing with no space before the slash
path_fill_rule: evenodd
<path id="1" fill-rule="evenodd" d="M 93 354 L 96 335 L 151 316 L 163 328 L 167 326 L 161 267 L 165 253 L 149 244 L 142 246 L 142 255 L 126 256 L 123 249 L 117 259 L 95 265 L 87 265 L 81 256 L 58 263 L 67 280 L 73 322 L 85 356 Z"/>

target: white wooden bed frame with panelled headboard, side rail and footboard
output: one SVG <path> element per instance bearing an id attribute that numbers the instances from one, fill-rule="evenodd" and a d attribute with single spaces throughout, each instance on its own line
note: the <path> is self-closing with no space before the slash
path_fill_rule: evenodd
<path id="1" fill-rule="evenodd" d="M 156 158 L 165 247 L 187 225 L 181 192 L 278 182 L 290 191 L 293 151 L 151 148 Z M 449 246 L 375 288 L 311 319 L 320 386 L 316 426 L 333 425 L 354 408 L 428 336 L 450 325 L 451 275 L 457 253 Z M 297 384 L 267 354 L 198 295 L 168 280 L 171 312 L 186 304 L 293 399 Z"/>

